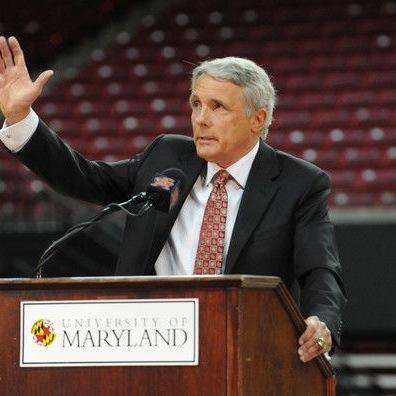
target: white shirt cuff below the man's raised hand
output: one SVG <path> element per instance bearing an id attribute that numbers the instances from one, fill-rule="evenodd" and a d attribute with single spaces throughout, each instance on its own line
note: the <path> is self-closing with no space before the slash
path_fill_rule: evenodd
<path id="1" fill-rule="evenodd" d="M 22 121 L 16 124 L 7 125 L 6 120 L 0 129 L 0 140 L 10 151 L 17 153 L 32 137 L 38 123 L 38 115 L 32 109 Z"/>

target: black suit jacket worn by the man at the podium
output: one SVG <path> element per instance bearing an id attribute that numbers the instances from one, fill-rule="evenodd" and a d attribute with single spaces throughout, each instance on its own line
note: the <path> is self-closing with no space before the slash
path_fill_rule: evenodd
<path id="1" fill-rule="evenodd" d="M 187 186 L 167 213 L 128 217 L 116 275 L 149 275 L 206 162 L 191 138 L 158 137 L 142 153 L 116 163 L 88 161 L 44 123 L 16 156 L 57 191 L 99 203 L 122 202 L 144 191 L 156 172 L 180 168 Z M 345 302 L 340 264 L 328 218 L 328 176 L 316 166 L 260 142 L 225 263 L 226 274 L 273 275 L 301 287 L 303 315 L 326 322 L 336 343 Z"/>

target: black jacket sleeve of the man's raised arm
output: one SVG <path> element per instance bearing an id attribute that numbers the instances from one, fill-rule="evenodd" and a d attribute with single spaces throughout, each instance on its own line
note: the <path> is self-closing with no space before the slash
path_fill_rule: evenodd
<path id="1" fill-rule="evenodd" d="M 40 120 L 29 142 L 15 156 L 59 193 L 106 205 L 130 198 L 139 167 L 160 139 L 130 160 L 89 161 Z"/>

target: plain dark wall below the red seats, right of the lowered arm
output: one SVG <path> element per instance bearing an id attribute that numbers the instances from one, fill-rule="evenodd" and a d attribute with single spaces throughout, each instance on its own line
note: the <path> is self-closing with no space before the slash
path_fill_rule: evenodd
<path id="1" fill-rule="evenodd" d="M 348 291 L 345 333 L 396 334 L 396 225 L 336 227 Z"/>

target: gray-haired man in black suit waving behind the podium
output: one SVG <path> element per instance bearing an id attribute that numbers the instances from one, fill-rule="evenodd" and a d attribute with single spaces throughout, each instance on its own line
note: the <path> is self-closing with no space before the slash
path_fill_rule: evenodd
<path id="1" fill-rule="evenodd" d="M 186 173 L 169 214 L 127 219 L 117 275 L 275 275 L 288 288 L 297 280 L 307 317 L 301 360 L 338 344 L 345 297 L 328 219 L 329 178 L 260 137 L 275 104 L 262 68 L 241 58 L 202 63 L 191 87 L 193 140 L 160 136 L 142 154 L 109 164 L 83 158 L 31 110 L 52 71 L 32 82 L 14 37 L 0 37 L 0 52 L 1 140 L 53 188 L 107 204 L 144 190 L 158 171 Z"/>

